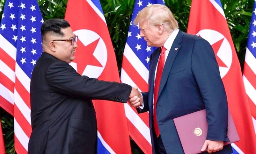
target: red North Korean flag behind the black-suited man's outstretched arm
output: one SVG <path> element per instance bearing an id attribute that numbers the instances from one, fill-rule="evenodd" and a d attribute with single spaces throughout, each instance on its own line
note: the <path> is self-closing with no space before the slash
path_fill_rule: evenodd
<path id="1" fill-rule="evenodd" d="M 98 80 L 120 82 L 117 62 L 99 0 L 69 0 L 65 19 L 78 35 L 76 71 Z M 130 154 L 130 138 L 122 103 L 93 100 L 99 154 Z"/>

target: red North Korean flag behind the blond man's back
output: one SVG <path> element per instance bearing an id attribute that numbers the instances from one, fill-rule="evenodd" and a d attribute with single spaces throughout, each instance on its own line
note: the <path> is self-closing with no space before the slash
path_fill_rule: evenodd
<path id="1" fill-rule="evenodd" d="M 250 106 L 221 1 L 192 0 L 187 33 L 206 39 L 215 52 L 228 107 L 240 138 L 240 141 L 232 144 L 234 153 L 256 153 L 256 135 Z"/>

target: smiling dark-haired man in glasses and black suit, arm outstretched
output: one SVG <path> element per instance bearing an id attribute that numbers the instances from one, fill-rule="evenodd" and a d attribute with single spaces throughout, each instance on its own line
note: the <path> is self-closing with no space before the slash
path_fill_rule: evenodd
<path id="1" fill-rule="evenodd" d="M 139 91 L 130 85 L 81 76 L 69 63 L 78 36 L 63 19 L 41 26 L 43 53 L 33 69 L 30 154 L 96 154 L 97 123 L 92 99 L 126 103 Z M 118 115 L 117 115 L 118 116 Z"/>

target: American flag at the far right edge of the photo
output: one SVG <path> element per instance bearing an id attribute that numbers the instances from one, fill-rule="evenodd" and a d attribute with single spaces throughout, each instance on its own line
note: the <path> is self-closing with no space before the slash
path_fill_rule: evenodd
<path id="1" fill-rule="evenodd" d="M 256 134 L 256 0 L 254 0 L 252 20 L 245 53 L 243 82 L 248 97 L 252 121 Z M 254 48 L 255 47 L 255 48 Z M 256 146 L 256 145 L 255 145 Z"/>

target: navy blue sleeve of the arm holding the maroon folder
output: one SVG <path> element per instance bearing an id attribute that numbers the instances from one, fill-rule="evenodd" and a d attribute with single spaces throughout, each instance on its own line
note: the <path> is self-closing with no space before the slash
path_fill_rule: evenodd
<path id="1" fill-rule="evenodd" d="M 228 141 L 228 106 L 226 92 L 210 43 L 200 39 L 192 53 L 192 72 L 202 95 L 207 113 L 207 140 Z"/>

